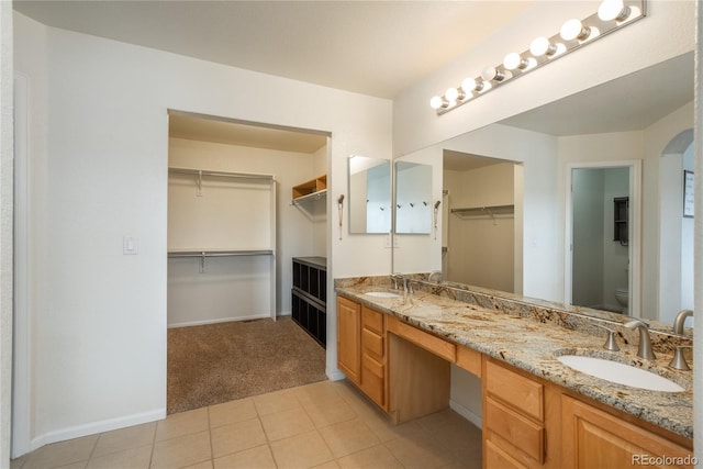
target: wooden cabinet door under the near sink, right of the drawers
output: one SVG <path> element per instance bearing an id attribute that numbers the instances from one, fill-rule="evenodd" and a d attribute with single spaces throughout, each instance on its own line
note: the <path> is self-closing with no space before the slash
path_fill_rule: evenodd
<path id="1" fill-rule="evenodd" d="M 568 395 L 561 416 L 565 469 L 692 467 L 687 448 Z"/>

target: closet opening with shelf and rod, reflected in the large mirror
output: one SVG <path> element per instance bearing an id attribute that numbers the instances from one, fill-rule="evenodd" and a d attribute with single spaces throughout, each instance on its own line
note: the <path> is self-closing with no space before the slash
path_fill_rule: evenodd
<path id="1" fill-rule="evenodd" d="M 444 279 L 521 293 L 523 166 L 451 150 L 443 166 Z"/>

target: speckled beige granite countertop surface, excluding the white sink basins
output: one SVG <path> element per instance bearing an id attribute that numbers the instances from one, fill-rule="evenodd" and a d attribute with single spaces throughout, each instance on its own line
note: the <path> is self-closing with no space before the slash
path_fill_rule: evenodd
<path id="1" fill-rule="evenodd" d="M 636 417 L 693 438 L 692 371 L 667 367 L 671 354 L 657 353 L 652 361 L 637 357 L 635 344 L 618 343 L 621 350 L 603 349 L 605 335 L 594 336 L 559 325 L 505 314 L 426 291 L 399 298 L 364 294 L 388 288 L 369 284 L 337 286 L 339 295 L 398 316 L 421 330 L 528 371 Z M 559 355 L 590 355 L 649 369 L 684 388 L 682 392 L 649 391 L 612 383 L 562 365 Z"/>

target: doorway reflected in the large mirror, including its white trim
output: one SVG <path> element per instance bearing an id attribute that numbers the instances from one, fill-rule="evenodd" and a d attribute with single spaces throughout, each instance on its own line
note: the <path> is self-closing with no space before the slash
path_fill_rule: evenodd
<path id="1" fill-rule="evenodd" d="M 571 165 L 566 302 L 639 316 L 639 161 Z"/>

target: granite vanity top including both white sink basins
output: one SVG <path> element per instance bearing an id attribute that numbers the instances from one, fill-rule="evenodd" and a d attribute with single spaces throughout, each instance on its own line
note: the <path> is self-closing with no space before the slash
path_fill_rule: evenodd
<path id="1" fill-rule="evenodd" d="M 336 290 L 343 297 L 539 379 L 685 438 L 693 436 L 692 372 L 667 367 L 672 356 L 668 350 L 673 346 L 658 353 L 656 360 L 644 360 L 637 356 L 636 333 L 626 330 L 618 333 L 621 351 L 609 351 L 603 348 L 603 333 L 592 327 L 592 320 L 588 320 L 590 331 L 573 330 L 553 323 L 549 315 L 554 312 L 527 317 L 524 312 L 516 314 L 505 308 L 457 301 L 449 298 L 453 292 L 447 294 L 445 289 L 437 288 L 405 293 L 390 287 L 341 282 Z M 533 313 L 539 310 L 524 304 L 515 308 Z M 562 317 L 560 321 L 566 322 Z"/>

